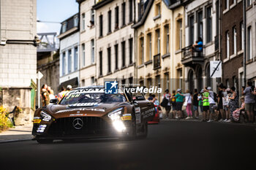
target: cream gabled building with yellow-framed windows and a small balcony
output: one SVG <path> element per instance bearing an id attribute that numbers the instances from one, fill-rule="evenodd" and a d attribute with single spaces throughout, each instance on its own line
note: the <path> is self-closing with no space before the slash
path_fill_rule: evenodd
<path id="1" fill-rule="evenodd" d="M 181 1 L 148 1 L 135 23 L 140 85 L 184 88 L 181 49 L 184 47 L 184 7 Z"/>

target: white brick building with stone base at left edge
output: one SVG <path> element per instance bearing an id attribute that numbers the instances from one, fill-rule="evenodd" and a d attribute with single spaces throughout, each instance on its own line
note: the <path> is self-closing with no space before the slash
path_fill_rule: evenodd
<path id="1" fill-rule="evenodd" d="M 0 105 L 22 110 L 16 125 L 31 123 L 37 78 L 37 1 L 0 1 Z"/>

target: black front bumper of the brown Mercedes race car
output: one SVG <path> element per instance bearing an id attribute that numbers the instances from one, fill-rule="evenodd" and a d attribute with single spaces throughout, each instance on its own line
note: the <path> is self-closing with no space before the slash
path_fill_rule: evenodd
<path id="1" fill-rule="evenodd" d="M 83 120 L 83 127 L 74 128 L 73 122 L 76 118 Z M 111 121 L 102 117 L 65 117 L 59 118 L 46 124 L 45 131 L 38 132 L 40 124 L 34 124 L 32 134 L 34 139 L 88 139 L 126 136 L 131 131 L 132 121 L 122 121 L 127 128 L 126 131 L 118 132 L 113 128 Z"/>

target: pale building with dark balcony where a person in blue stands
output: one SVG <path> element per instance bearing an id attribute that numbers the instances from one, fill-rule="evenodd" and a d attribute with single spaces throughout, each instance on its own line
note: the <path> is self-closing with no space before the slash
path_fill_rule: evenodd
<path id="1" fill-rule="evenodd" d="M 185 86 L 189 90 L 211 86 L 217 80 L 210 75 L 210 61 L 219 58 L 219 1 L 189 1 L 185 6 L 185 46 L 181 63 L 185 66 Z M 191 53 L 198 37 L 203 39 L 203 52 Z"/>

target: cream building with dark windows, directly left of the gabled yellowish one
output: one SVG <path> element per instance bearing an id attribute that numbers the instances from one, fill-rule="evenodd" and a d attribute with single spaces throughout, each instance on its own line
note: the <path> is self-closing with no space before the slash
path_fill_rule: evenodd
<path id="1" fill-rule="evenodd" d="M 135 77 L 135 39 L 131 28 L 135 19 L 132 0 L 103 0 L 95 10 L 95 54 L 97 85 L 106 79 L 118 79 L 121 84 L 132 84 Z"/>

